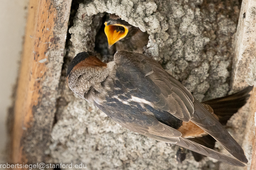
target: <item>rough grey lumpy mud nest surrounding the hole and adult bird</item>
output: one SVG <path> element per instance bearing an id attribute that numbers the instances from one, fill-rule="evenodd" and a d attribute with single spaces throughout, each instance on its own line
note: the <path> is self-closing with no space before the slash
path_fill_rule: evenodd
<path id="1" fill-rule="evenodd" d="M 74 26 L 69 29 L 72 44 L 64 60 L 57 122 L 47 151 L 53 161 L 83 162 L 88 169 L 97 170 L 218 169 L 214 160 L 196 162 L 188 151 L 187 158 L 177 163 L 177 146 L 168 147 L 122 128 L 93 104 L 75 96 L 66 84 L 65 72 L 75 54 L 93 51 L 102 13 L 115 13 L 147 31 L 150 36 L 146 52 L 197 99 L 225 96 L 230 90 L 232 37 L 239 9 L 237 0 L 214 4 L 202 0 L 94 0 L 80 4 Z"/>

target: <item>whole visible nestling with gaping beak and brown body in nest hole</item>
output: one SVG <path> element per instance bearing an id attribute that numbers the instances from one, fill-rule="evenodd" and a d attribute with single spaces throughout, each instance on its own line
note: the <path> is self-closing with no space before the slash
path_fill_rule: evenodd
<path id="1" fill-rule="evenodd" d="M 149 36 L 146 32 L 142 32 L 138 27 L 121 20 L 115 14 L 108 14 L 104 24 L 109 48 L 115 44 L 117 51 L 144 52 L 143 47 L 147 45 Z"/>

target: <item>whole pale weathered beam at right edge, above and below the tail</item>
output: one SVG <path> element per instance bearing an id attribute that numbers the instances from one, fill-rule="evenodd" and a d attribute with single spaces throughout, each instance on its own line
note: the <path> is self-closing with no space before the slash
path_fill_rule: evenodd
<path id="1" fill-rule="evenodd" d="M 240 17 L 234 42 L 234 63 L 232 75 L 232 89 L 235 91 L 248 85 L 256 85 L 256 1 L 243 0 L 240 10 Z M 251 92 L 246 112 L 239 111 L 233 124 L 246 124 L 240 126 L 243 129 L 244 138 L 241 139 L 242 147 L 245 148 L 245 155 L 248 164 L 240 169 L 256 169 L 256 138 L 255 138 L 255 113 L 256 113 L 256 87 Z M 238 115 L 241 115 L 240 117 Z M 242 119 L 241 119 L 242 118 Z M 239 136 L 239 135 L 238 135 Z"/>

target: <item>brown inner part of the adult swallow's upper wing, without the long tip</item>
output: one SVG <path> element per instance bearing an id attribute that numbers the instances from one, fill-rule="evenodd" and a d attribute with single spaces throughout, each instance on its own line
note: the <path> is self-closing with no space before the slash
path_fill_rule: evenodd
<path id="1" fill-rule="evenodd" d="M 194 113 L 194 97 L 175 77 L 168 74 L 160 64 L 143 54 L 117 51 L 114 55 L 116 65 L 132 64 L 139 68 L 161 91 L 160 101 L 154 108 L 167 111 L 182 121 L 188 122 Z M 150 73 L 150 74 L 149 74 Z"/>

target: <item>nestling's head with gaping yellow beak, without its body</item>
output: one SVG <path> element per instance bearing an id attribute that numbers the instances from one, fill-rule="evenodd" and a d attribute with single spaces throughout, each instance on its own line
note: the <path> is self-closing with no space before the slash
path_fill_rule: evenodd
<path id="1" fill-rule="evenodd" d="M 131 28 L 133 28 L 133 26 L 121 20 L 119 16 L 110 14 L 106 19 L 104 29 L 108 38 L 109 47 L 123 39 Z"/>

